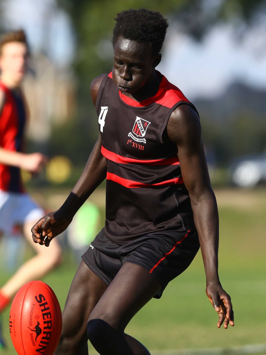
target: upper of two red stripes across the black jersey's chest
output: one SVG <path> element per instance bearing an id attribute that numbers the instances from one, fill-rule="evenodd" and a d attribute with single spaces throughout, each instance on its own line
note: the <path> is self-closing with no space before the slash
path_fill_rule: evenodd
<path id="1" fill-rule="evenodd" d="M 101 147 L 102 155 L 111 160 L 114 163 L 118 164 L 145 164 L 145 165 L 179 165 L 178 157 L 165 158 L 165 159 L 134 159 L 123 157 L 116 153 L 108 151 L 103 146 Z"/>

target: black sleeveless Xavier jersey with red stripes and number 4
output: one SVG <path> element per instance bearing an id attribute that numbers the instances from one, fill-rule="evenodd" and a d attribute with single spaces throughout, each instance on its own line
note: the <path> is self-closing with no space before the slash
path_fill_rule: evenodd
<path id="1" fill-rule="evenodd" d="M 101 153 L 107 160 L 104 233 L 118 245 L 161 230 L 195 230 L 177 149 L 166 133 L 172 111 L 192 104 L 157 74 L 157 93 L 140 103 L 118 90 L 112 73 L 98 91 Z"/>

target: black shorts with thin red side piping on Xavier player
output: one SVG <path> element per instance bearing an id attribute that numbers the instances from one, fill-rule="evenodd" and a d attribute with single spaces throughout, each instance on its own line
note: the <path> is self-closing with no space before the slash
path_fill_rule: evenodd
<path id="1" fill-rule="evenodd" d="M 154 296 L 160 298 L 168 282 L 190 265 L 198 250 L 199 238 L 195 231 L 160 231 L 117 245 L 101 230 L 82 260 L 107 285 L 124 262 L 142 266 L 161 283 L 162 289 Z"/>

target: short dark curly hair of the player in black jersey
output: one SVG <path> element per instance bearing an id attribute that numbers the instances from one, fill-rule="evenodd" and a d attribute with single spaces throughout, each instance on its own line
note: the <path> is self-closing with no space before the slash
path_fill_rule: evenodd
<path id="1" fill-rule="evenodd" d="M 150 45 L 151 51 L 158 54 L 164 43 L 168 21 L 159 11 L 148 9 L 129 9 L 121 11 L 115 18 L 113 46 L 122 36 L 138 43 Z"/>

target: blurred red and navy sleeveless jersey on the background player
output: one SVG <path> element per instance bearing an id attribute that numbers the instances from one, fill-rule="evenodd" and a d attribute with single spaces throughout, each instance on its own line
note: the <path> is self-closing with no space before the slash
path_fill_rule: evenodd
<path id="1" fill-rule="evenodd" d="M 0 81 L 5 92 L 5 104 L 0 115 L 0 147 L 9 151 L 22 151 L 26 112 L 23 98 L 13 93 Z M 0 190 L 24 192 L 20 168 L 0 163 Z"/>

